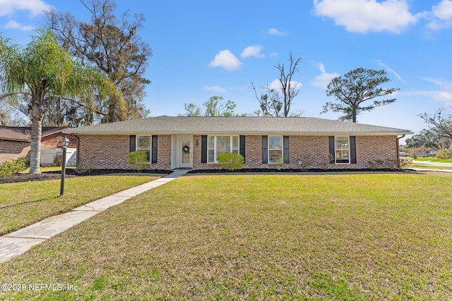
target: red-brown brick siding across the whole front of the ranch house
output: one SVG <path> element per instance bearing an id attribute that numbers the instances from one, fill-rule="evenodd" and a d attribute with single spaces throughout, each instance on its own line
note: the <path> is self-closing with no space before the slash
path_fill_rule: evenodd
<path id="1" fill-rule="evenodd" d="M 129 135 L 80 135 L 78 159 L 91 168 L 130 169 L 126 158 L 129 153 Z M 148 169 L 171 169 L 171 135 L 158 135 L 157 164 Z M 217 169 L 218 164 L 201 163 L 201 135 L 193 135 L 193 168 Z M 274 164 L 262 164 L 261 135 L 246 136 L 246 160 L 244 168 L 274 168 Z M 325 164 L 328 162 L 328 136 L 297 136 L 289 138 L 290 163 L 283 168 L 300 168 L 299 160 L 309 158 L 309 168 L 369 168 L 375 159 L 397 159 L 396 136 L 357 136 L 356 164 Z"/>

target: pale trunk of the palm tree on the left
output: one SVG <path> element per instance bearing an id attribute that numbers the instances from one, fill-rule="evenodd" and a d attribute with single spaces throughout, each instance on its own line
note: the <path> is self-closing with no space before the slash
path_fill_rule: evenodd
<path id="1" fill-rule="evenodd" d="M 41 137 L 42 137 L 42 116 L 44 109 L 40 101 L 32 102 L 30 108 L 31 117 L 31 149 L 30 149 L 30 172 L 41 173 Z"/>

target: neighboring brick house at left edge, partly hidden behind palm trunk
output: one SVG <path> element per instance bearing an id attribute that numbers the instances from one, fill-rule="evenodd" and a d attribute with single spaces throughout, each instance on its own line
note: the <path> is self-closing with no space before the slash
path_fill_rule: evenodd
<path id="1" fill-rule="evenodd" d="M 63 134 L 65 128 L 42 127 L 41 148 L 57 149 L 61 147 L 61 139 L 67 134 Z M 31 127 L 4 126 L 0 125 L 0 164 L 25 157 L 30 159 L 30 135 Z M 77 138 L 68 135 L 71 144 L 69 147 L 77 147 Z"/>

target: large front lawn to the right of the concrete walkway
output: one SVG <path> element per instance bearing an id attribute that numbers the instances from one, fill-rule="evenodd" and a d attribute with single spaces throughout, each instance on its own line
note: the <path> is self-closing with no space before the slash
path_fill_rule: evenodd
<path id="1" fill-rule="evenodd" d="M 450 176 L 185 176 L 0 264 L 16 300 L 451 300 Z M 4 294 L 4 295 L 1 295 Z"/>

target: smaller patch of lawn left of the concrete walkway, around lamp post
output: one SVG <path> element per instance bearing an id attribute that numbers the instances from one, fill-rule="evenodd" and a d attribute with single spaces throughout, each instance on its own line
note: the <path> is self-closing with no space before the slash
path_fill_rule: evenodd
<path id="1" fill-rule="evenodd" d="M 60 180 L 0 184 L 0 235 L 154 178 L 157 177 L 118 175 L 66 178 L 61 197 Z"/>

